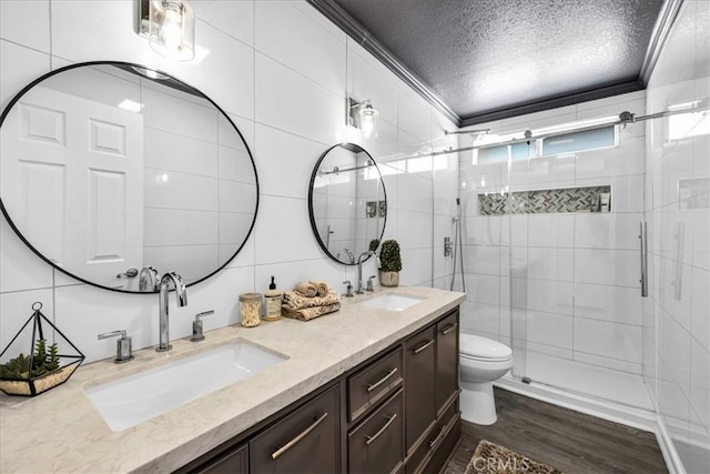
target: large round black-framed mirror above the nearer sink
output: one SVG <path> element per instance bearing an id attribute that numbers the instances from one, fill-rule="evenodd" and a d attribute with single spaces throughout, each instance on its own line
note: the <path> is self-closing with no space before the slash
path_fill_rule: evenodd
<path id="1" fill-rule="evenodd" d="M 199 90 L 138 64 L 62 68 L 0 115 L 0 204 L 38 255 L 83 282 L 189 284 L 244 245 L 258 206 L 252 154 Z"/>

